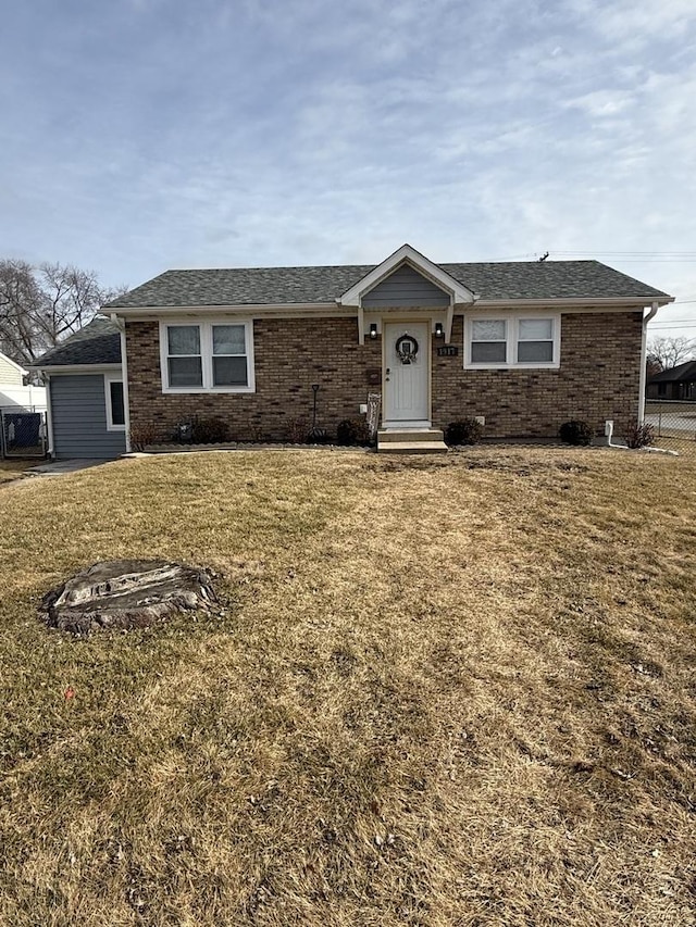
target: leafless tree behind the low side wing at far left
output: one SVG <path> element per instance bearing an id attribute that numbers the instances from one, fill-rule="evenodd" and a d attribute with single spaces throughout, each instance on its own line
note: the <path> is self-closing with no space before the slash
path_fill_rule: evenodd
<path id="1" fill-rule="evenodd" d="M 120 292 L 72 265 L 0 260 L 0 351 L 30 364 Z"/>

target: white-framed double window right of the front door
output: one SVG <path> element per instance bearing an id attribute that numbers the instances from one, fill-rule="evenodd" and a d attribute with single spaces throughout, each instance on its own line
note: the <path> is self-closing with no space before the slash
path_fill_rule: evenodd
<path id="1" fill-rule="evenodd" d="M 557 368 L 560 315 L 469 316 L 464 321 L 464 367 Z"/>

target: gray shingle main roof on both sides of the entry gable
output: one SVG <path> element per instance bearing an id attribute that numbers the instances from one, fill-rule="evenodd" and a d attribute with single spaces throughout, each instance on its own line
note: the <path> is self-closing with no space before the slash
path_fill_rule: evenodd
<path id="1" fill-rule="evenodd" d="M 598 261 L 440 264 L 484 300 L 664 297 Z M 110 309 L 333 303 L 374 265 L 166 271 L 109 303 Z"/>

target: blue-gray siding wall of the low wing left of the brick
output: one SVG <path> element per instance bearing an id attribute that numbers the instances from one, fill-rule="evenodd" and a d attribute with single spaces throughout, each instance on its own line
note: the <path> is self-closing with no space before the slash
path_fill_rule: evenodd
<path id="1" fill-rule="evenodd" d="M 50 378 L 53 455 L 57 460 L 113 460 L 124 453 L 125 431 L 107 430 L 103 374 Z"/>

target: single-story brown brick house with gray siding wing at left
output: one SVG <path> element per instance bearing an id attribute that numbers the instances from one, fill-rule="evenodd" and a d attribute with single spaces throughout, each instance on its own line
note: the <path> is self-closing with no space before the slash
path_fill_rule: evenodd
<path id="1" fill-rule="evenodd" d="M 330 433 L 369 394 L 385 438 L 475 416 L 492 438 L 555 438 L 569 418 L 620 433 L 643 415 L 647 320 L 671 301 L 596 261 L 435 264 L 409 245 L 376 266 L 167 271 L 38 362 L 51 452 L 114 456 L 195 417 L 283 440 L 311 425 L 313 385 Z"/>

